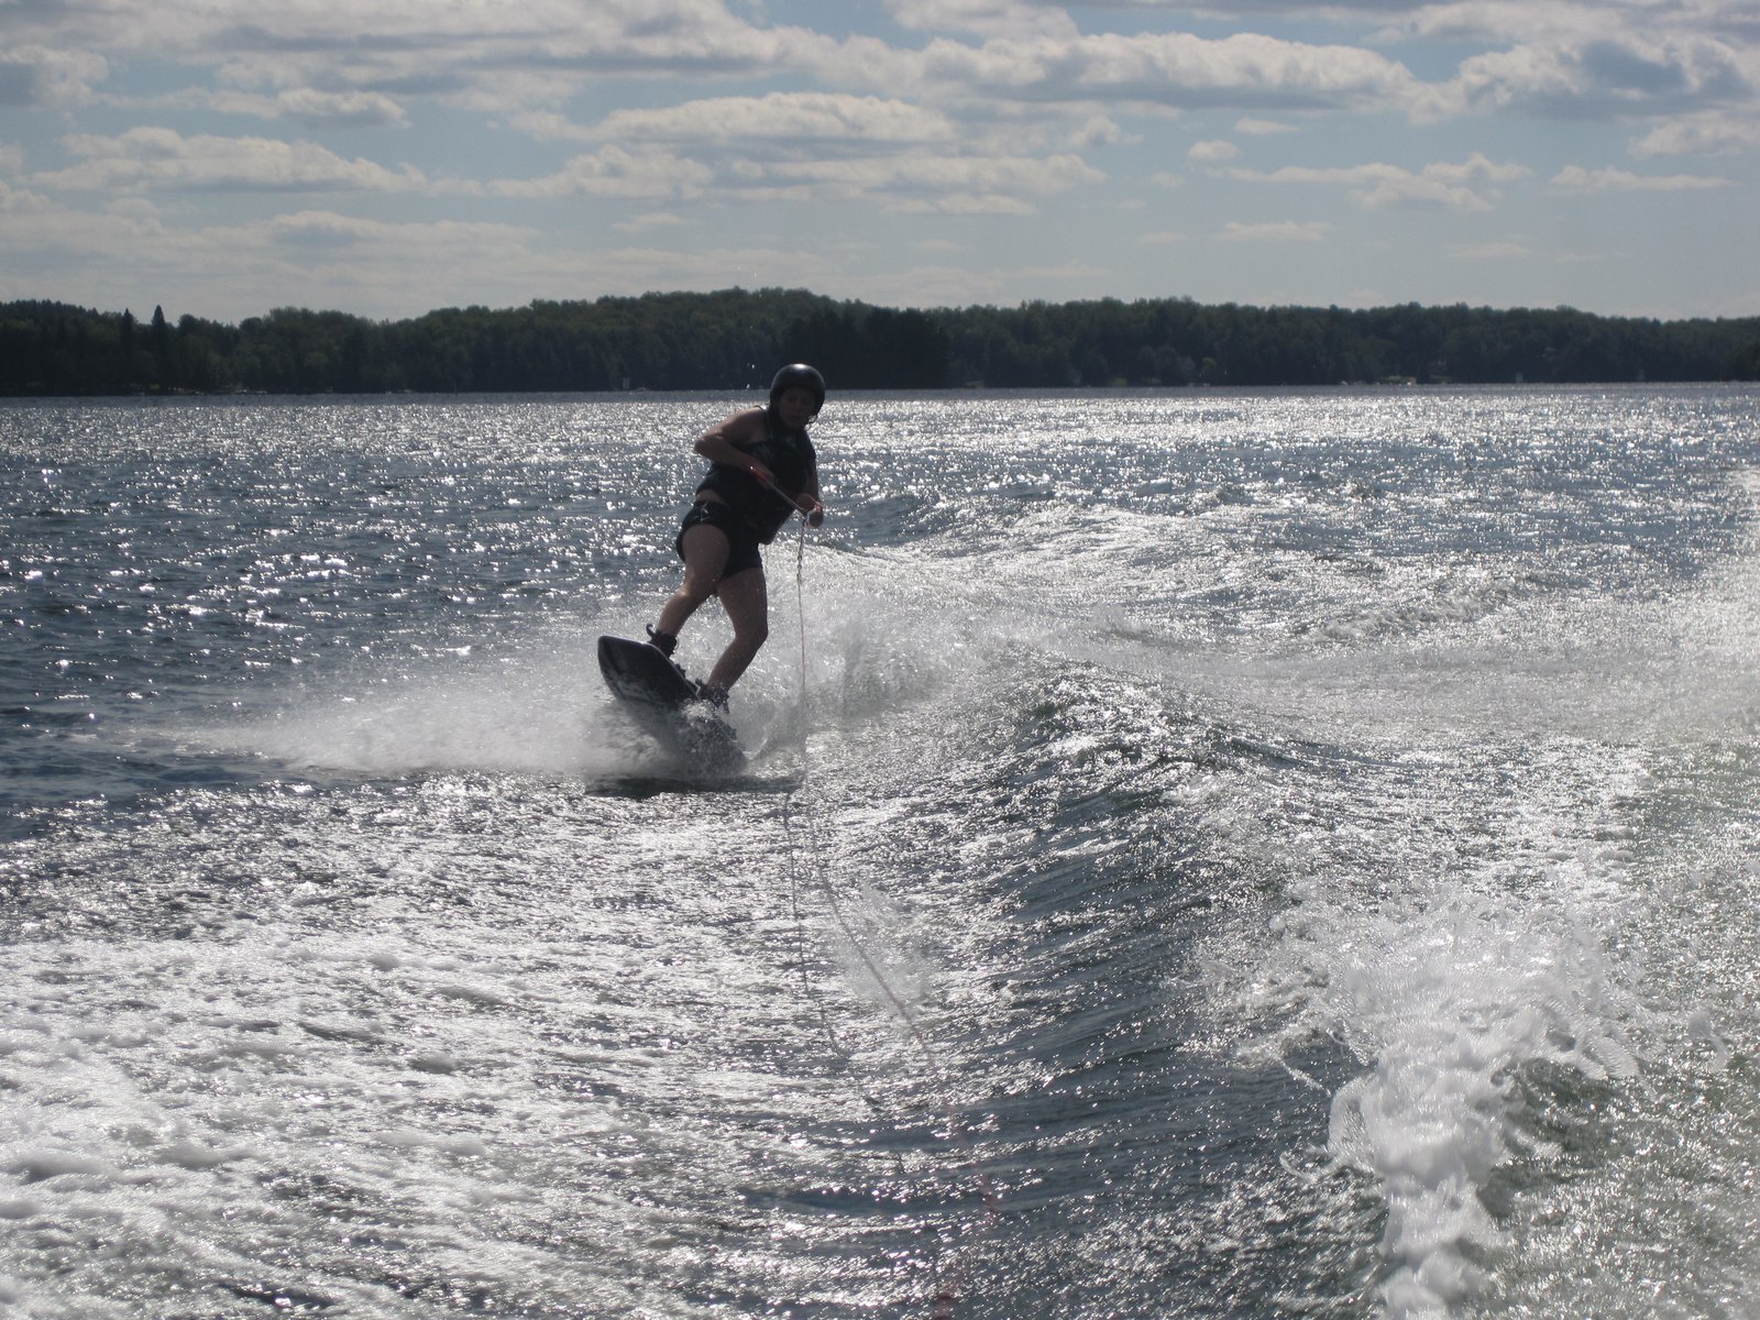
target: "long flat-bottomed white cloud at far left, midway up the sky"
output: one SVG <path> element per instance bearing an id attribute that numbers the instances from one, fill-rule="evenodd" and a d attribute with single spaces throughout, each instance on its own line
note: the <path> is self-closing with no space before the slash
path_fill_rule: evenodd
<path id="1" fill-rule="evenodd" d="M 271 137 L 183 137 L 172 128 L 130 128 L 120 137 L 72 134 L 63 139 L 79 164 L 37 174 L 44 188 L 134 192 L 213 188 L 234 192 L 415 192 L 421 171 L 347 160 L 315 143 Z"/>

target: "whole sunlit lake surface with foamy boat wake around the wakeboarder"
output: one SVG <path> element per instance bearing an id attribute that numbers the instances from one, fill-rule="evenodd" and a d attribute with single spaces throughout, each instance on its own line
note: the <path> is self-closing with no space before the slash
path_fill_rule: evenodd
<path id="1" fill-rule="evenodd" d="M 0 405 L 0 1313 L 1760 1313 L 1760 391 L 743 401 Z"/>

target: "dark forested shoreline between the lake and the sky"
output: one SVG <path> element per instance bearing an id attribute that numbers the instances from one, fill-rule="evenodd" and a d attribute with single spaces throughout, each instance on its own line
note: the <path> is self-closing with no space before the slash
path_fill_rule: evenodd
<path id="1" fill-rule="evenodd" d="M 238 326 L 0 304 L 0 394 L 746 389 L 787 361 L 834 389 L 1760 380 L 1760 317 L 1183 297 L 919 312 L 790 289 Z"/>

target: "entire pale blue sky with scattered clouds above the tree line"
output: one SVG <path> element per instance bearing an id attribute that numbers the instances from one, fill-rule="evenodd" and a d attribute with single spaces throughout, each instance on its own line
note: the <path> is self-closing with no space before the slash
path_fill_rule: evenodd
<path id="1" fill-rule="evenodd" d="M 1760 315 L 1760 0 L 0 0 L 0 301 Z"/>

